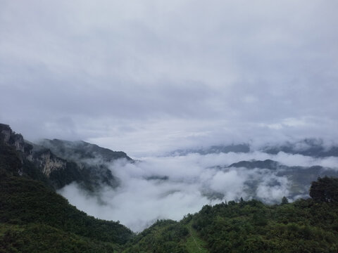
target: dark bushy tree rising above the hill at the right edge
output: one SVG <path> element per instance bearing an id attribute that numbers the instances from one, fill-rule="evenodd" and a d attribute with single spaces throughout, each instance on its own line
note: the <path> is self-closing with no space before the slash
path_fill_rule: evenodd
<path id="1" fill-rule="evenodd" d="M 338 179 L 327 176 L 318 178 L 311 184 L 310 196 L 322 202 L 338 202 Z"/>

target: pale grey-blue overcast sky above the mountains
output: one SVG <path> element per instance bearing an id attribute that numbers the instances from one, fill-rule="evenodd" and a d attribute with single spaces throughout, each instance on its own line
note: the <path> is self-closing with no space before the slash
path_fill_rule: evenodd
<path id="1" fill-rule="evenodd" d="M 0 122 L 138 156 L 338 137 L 338 1 L 0 0 Z"/>

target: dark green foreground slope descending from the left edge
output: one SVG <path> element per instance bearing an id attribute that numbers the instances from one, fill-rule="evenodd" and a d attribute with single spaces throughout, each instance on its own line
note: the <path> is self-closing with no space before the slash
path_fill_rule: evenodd
<path id="1" fill-rule="evenodd" d="M 87 216 L 43 183 L 20 176 L 20 154 L 0 146 L 0 252 L 113 252 L 132 238 L 120 223 Z"/>

